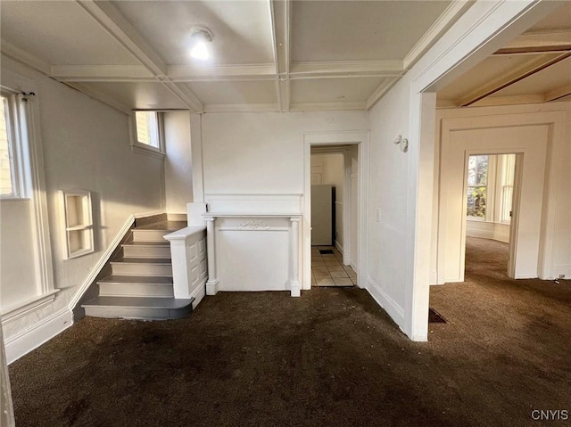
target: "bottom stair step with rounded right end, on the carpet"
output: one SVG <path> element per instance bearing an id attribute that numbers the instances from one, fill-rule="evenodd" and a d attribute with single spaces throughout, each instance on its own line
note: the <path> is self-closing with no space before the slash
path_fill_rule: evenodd
<path id="1" fill-rule="evenodd" d="M 126 319 L 165 320 L 178 319 L 192 312 L 190 300 L 174 298 L 109 297 L 99 296 L 88 300 L 81 307 L 86 316 L 120 317 Z"/>

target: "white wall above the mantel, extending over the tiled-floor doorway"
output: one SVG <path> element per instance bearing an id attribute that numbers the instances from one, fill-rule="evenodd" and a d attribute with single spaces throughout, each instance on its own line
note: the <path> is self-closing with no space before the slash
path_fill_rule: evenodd
<path id="1" fill-rule="evenodd" d="M 366 128 L 364 111 L 204 114 L 204 193 L 303 193 L 302 134 Z"/>

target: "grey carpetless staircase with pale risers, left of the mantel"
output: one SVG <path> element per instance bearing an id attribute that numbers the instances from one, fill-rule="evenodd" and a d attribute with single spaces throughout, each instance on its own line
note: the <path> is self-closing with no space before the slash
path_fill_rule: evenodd
<path id="1" fill-rule="evenodd" d="M 96 282 L 99 295 L 81 305 L 86 316 L 163 320 L 191 313 L 194 298 L 174 298 L 170 243 L 163 239 L 184 227 L 164 220 L 133 228 L 110 263 L 112 274 Z"/>

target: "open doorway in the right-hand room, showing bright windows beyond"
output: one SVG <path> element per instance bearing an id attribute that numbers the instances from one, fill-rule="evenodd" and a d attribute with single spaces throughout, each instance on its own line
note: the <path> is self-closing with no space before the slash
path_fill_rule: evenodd
<path id="1" fill-rule="evenodd" d="M 517 154 L 472 154 L 466 165 L 466 262 L 465 269 L 482 260 L 501 260 L 504 274 L 514 277 L 518 203 Z M 480 262 L 476 262 L 480 260 Z"/>

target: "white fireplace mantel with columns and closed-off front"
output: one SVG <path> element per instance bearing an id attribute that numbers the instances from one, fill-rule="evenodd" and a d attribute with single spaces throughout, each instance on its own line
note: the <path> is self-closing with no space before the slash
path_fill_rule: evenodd
<path id="1" fill-rule="evenodd" d="M 301 194 L 205 194 L 206 293 L 290 291 L 299 281 Z"/>

